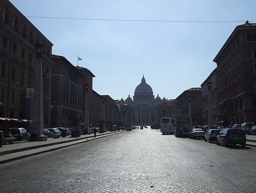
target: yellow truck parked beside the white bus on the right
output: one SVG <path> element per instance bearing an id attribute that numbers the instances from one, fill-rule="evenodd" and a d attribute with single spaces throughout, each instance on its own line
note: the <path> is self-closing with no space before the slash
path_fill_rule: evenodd
<path id="1" fill-rule="evenodd" d="M 175 115 L 175 137 L 188 137 L 191 129 L 192 121 L 190 115 Z"/>

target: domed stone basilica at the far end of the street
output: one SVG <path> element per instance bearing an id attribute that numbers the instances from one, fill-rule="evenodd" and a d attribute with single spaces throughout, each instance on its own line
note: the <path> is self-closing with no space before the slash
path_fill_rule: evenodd
<path id="1" fill-rule="evenodd" d="M 155 97 L 143 75 L 140 84 L 134 90 L 133 99 L 128 95 L 126 100 L 122 98 L 118 101 L 121 122 L 132 125 L 159 123 L 161 117 L 172 117 L 173 101 L 165 97 L 161 99 L 158 94 Z"/>

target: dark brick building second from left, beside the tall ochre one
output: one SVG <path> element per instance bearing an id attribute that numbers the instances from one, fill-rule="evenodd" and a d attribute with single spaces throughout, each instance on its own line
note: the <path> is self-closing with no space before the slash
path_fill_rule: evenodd
<path id="1" fill-rule="evenodd" d="M 52 55 L 52 101 L 51 127 L 70 127 L 72 121 L 67 117 L 72 113 L 83 115 L 84 77 L 65 57 Z"/>

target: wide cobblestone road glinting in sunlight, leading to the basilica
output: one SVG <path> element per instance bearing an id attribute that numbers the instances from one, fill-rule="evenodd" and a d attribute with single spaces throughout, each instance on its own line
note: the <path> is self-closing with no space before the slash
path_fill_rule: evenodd
<path id="1" fill-rule="evenodd" d="M 0 165 L 0 193 L 255 193 L 256 148 L 150 128 Z"/>

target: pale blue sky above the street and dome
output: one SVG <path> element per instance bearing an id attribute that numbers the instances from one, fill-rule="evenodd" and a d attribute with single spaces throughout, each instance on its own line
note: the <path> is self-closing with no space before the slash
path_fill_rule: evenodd
<path id="1" fill-rule="evenodd" d="M 53 43 L 52 54 L 74 66 L 81 57 L 93 90 L 115 100 L 134 96 L 143 75 L 161 99 L 200 87 L 235 27 L 256 23 L 255 0 L 10 2 Z"/>

